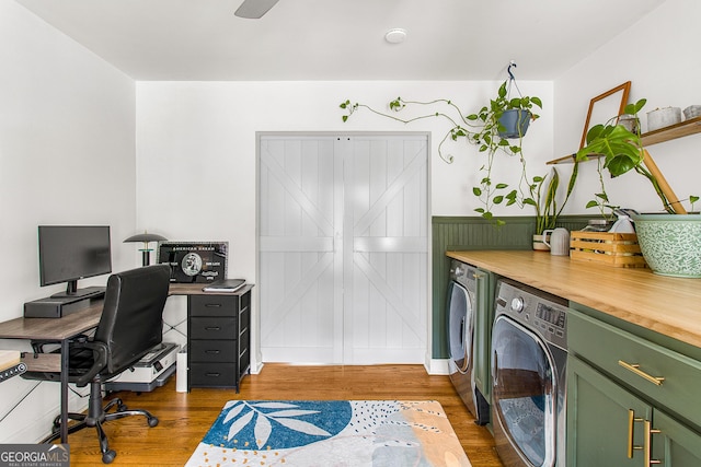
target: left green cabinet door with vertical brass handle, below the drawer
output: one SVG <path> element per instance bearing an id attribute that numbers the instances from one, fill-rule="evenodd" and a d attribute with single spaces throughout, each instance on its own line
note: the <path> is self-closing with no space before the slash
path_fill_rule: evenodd
<path id="1" fill-rule="evenodd" d="M 576 357 L 567 362 L 567 466 L 644 466 L 652 407 Z"/>

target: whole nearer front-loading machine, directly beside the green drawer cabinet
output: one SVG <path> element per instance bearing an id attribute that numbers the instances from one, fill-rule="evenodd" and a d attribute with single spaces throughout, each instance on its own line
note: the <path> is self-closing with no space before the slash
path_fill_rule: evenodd
<path id="1" fill-rule="evenodd" d="M 506 467 L 565 467 L 567 302 L 499 280 L 492 329 L 492 425 Z"/>

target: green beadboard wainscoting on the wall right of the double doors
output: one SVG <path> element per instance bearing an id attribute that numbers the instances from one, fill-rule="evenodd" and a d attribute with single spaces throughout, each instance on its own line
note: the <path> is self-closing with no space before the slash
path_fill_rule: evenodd
<path id="1" fill-rule="evenodd" d="M 433 255 L 433 349 L 434 359 L 447 359 L 446 292 L 448 291 L 449 250 L 470 249 L 531 249 L 536 231 L 536 218 L 502 218 L 506 225 L 495 227 L 482 218 L 434 217 L 432 219 Z M 570 231 L 581 230 L 589 217 L 560 218 L 558 226 Z"/>

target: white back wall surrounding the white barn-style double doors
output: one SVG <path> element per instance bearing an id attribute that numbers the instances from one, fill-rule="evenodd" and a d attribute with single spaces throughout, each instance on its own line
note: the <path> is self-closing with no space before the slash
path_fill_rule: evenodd
<path id="1" fill-rule="evenodd" d="M 463 142 L 448 144 L 456 156 L 453 164 L 440 161 L 437 145 L 450 128 L 445 120 L 432 118 L 404 125 L 359 110 L 344 124 L 338 104 L 349 98 L 383 109 L 398 95 L 405 100 L 443 97 L 452 100 L 468 114 L 487 104 L 498 85 L 498 82 L 139 82 L 137 152 L 142 180 L 137 196 L 139 223 L 170 229 L 165 236 L 230 235 L 232 224 L 226 220 L 218 226 L 211 221 L 186 222 L 184 215 L 194 215 L 193 207 L 199 210 L 200 218 L 203 213 L 211 214 L 216 208 L 207 205 L 222 198 L 242 201 L 237 213 L 252 222 L 256 131 L 434 131 L 432 213 L 472 215 L 478 205 L 471 188 L 478 180 L 476 170 L 483 157 L 475 147 Z M 525 142 L 533 171 L 539 172 L 544 168 L 544 161 L 553 156 L 552 83 L 521 82 L 519 87 L 545 103 L 541 118 L 531 126 Z M 430 114 L 439 107 L 429 108 Z M 510 174 L 513 164 L 505 166 L 502 172 Z M 198 183 L 193 186 L 193 180 Z M 163 210 L 163 202 L 177 207 L 181 215 Z M 520 211 L 508 209 L 506 213 L 518 215 Z"/>

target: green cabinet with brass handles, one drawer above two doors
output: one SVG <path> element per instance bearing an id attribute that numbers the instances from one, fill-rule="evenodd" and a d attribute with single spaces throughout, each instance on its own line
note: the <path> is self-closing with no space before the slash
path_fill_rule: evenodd
<path id="1" fill-rule="evenodd" d="M 572 310 L 567 337 L 567 466 L 701 466 L 699 361 Z"/>

